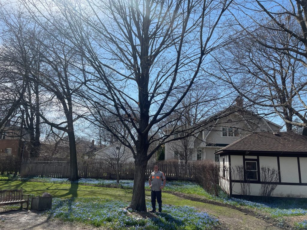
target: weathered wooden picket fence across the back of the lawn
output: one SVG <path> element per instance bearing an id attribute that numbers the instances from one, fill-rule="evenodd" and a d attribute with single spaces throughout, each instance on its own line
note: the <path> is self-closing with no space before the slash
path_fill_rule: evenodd
<path id="1" fill-rule="evenodd" d="M 146 167 L 146 176 L 153 171 L 154 164 Z M 160 171 L 164 172 L 167 179 L 193 180 L 189 177 L 191 164 L 187 165 L 185 174 L 184 164 L 164 163 L 159 164 Z M 66 178 L 70 176 L 69 159 L 63 158 L 23 158 L 20 168 L 21 177 L 54 177 Z M 80 178 L 103 178 L 115 179 L 116 174 L 112 173 L 106 164 L 101 160 L 78 160 L 78 175 Z M 134 178 L 134 164 L 127 163 L 120 169 L 121 179 Z"/>

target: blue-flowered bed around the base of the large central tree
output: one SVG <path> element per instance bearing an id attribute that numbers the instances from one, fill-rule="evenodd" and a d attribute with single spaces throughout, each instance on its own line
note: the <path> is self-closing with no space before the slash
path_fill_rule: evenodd
<path id="1" fill-rule="evenodd" d="M 55 198 L 49 217 L 69 222 L 81 222 L 107 229 L 147 229 L 147 230 L 200 230 L 216 229 L 219 221 L 207 213 L 193 207 L 163 205 L 162 213 L 147 215 L 146 212 L 133 213 L 126 210 L 129 203 L 119 200 L 97 198 Z M 150 203 L 147 203 L 147 208 Z M 144 216 L 146 213 L 147 216 Z"/>

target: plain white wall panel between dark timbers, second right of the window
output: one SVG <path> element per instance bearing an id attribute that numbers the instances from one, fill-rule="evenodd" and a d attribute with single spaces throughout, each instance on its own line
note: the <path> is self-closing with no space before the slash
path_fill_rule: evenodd
<path id="1" fill-rule="evenodd" d="M 282 182 L 298 183 L 297 157 L 279 157 Z"/>

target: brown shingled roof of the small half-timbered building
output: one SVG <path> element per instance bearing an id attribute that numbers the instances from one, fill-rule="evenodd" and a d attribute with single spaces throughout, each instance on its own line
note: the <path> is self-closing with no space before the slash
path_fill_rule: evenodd
<path id="1" fill-rule="evenodd" d="M 235 152 L 307 154 L 307 136 L 293 132 L 252 133 L 221 148 L 215 154 Z"/>

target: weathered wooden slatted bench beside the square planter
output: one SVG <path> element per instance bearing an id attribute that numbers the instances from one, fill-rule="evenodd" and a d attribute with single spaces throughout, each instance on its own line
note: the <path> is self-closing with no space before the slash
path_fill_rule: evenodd
<path id="1" fill-rule="evenodd" d="M 27 199 L 23 196 L 27 196 Z M 27 203 L 29 209 L 29 194 L 22 194 L 22 189 L 0 190 L 0 206 L 21 204 L 20 209 L 22 209 L 23 203 Z"/>

